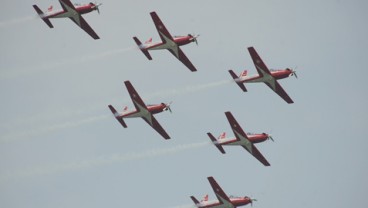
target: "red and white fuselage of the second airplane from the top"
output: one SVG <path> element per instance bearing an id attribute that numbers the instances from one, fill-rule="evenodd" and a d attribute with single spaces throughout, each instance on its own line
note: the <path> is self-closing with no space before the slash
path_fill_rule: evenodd
<path id="1" fill-rule="evenodd" d="M 174 43 L 175 45 L 170 45 L 169 43 L 163 43 L 163 42 L 146 42 L 142 44 L 142 48 L 146 50 L 162 50 L 162 49 L 171 49 L 172 47 L 178 47 L 182 45 L 189 44 L 191 42 L 194 42 L 194 37 L 191 35 L 187 36 L 174 36 Z"/>

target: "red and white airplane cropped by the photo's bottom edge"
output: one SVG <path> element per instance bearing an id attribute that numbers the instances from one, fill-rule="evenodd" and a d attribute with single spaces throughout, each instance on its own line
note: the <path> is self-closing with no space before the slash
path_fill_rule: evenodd
<path id="1" fill-rule="evenodd" d="M 212 176 L 207 179 L 210 182 L 218 200 L 208 201 L 208 195 L 206 195 L 203 200 L 198 201 L 194 196 L 191 196 L 190 198 L 198 208 L 235 208 L 245 206 L 247 204 L 253 205 L 253 201 L 257 201 L 256 199 L 251 199 L 248 196 L 227 196 Z"/>

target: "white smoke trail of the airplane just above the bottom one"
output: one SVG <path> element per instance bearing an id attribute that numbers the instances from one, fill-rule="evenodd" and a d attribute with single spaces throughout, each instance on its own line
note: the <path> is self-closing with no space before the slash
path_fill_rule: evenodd
<path id="1" fill-rule="evenodd" d="M 144 160 L 152 157 L 171 155 L 191 149 L 197 149 L 211 144 L 210 142 L 199 142 L 192 144 L 182 144 L 171 148 L 165 149 L 152 149 L 146 152 L 131 152 L 131 153 L 116 153 L 110 156 L 102 156 L 92 160 L 84 160 L 79 162 L 71 162 L 66 164 L 57 164 L 44 167 L 34 167 L 30 169 L 20 171 L 3 171 L 5 173 L 0 175 L 0 183 L 6 182 L 12 179 L 30 178 L 37 176 L 44 176 L 50 174 L 61 174 L 65 172 L 85 170 L 90 168 L 96 168 L 105 165 L 111 165 L 115 163 L 123 163 L 135 160 Z"/>

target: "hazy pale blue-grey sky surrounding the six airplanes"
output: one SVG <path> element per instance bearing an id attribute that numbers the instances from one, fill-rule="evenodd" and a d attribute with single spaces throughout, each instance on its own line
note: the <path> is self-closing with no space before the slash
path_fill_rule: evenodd
<path id="1" fill-rule="evenodd" d="M 84 3 L 84 2 L 81 2 Z M 0 9 L 0 207 L 190 207 L 189 196 L 226 193 L 256 208 L 365 208 L 368 193 L 368 2 L 102 1 L 84 15 L 93 40 L 68 19 L 54 29 L 32 8 L 57 0 L 4 0 Z M 132 39 L 159 36 L 156 11 L 173 35 L 200 34 L 182 47 L 198 72 L 168 51 L 153 60 Z M 280 83 L 288 105 L 264 84 L 244 93 L 228 69 L 256 73 L 254 46 L 269 68 L 296 68 Z M 156 118 L 165 141 L 142 119 L 123 129 L 108 104 L 133 108 L 123 82 L 147 103 L 173 101 Z M 222 155 L 207 132 L 232 136 L 231 111 L 257 144 L 264 167 L 241 147 Z"/>

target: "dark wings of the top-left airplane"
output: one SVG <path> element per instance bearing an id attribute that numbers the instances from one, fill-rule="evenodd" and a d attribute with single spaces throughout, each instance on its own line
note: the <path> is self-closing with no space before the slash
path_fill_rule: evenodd
<path id="1" fill-rule="evenodd" d="M 73 11 L 72 13 L 76 14 L 69 17 L 76 25 L 82 28 L 86 33 L 88 33 L 93 39 L 100 39 L 96 32 L 89 26 L 89 24 L 84 20 L 84 18 L 78 14 L 74 5 L 69 0 L 59 0 L 61 7 L 63 7 L 64 11 L 69 12 Z"/>

